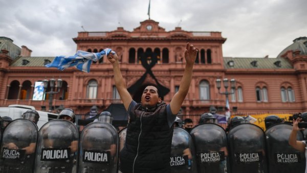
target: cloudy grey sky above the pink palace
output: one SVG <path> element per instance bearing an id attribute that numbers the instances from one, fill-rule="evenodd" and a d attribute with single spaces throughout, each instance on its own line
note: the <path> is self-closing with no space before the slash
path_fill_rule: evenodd
<path id="1" fill-rule="evenodd" d="M 33 57 L 74 55 L 78 32 L 133 31 L 149 0 L 0 0 L 0 36 Z M 307 36 L 306 0 L 151 0 L 150 18 L 166 31 L 222 32 L 224 57 L 276 58 Z M 181 21 L 181 22 L 180 22 Z"/>

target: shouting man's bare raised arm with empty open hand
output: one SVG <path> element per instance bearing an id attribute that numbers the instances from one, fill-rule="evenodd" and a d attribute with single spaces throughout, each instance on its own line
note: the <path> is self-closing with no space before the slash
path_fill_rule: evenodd
<path id="1" fill-rule="evenodd" d="M 191 80 L 192 80 L 192 70 L 193 65 L 196 59 L 198 50 L 192 44 L 187 43 L 186 50 L 184 51 L 184 58 L 186 60 L 186 66 L 184 69 L 183 77 L 180 82 L 179 91 L 172 97 L 170 101 L 170 109 L 172 114 L 178 114 L 180 111 L 181 105 L 186 97 Z"/>

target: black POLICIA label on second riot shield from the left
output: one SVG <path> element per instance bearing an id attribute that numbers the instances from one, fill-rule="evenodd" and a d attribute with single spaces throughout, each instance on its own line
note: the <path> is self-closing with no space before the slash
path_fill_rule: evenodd
<path id="1" fill-rule="evenodd" d="M 57 161 L 70 159 L 70 148 L 41 149 L 41 161 Z"/>

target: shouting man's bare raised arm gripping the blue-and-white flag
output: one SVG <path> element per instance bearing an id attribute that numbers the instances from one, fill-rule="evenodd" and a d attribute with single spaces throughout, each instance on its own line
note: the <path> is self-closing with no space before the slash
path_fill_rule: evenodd
<path id="1" fill-rule="evenodd" d="M 126 108 L 126 110 L 128 110 L 128 107 L 132 101 L 132 97 L 127 90 L 126 82 L 123 79 L 123 76 L 120 72 L 118 56 L 116 55 L 116 53 L 115 54 L 110 53 L 107 56 L 107 59 L 113 65 L 115 85 L 120 95 L 120 98 L 123 101 L 124 107 Z"/>

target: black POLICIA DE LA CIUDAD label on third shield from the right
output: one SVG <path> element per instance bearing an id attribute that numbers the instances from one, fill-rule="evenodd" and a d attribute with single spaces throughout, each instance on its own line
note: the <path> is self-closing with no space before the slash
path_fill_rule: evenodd
<path id="1" fill-rule="evenodd" d="M 199 163 L 216 163 L 225 160 L 225 153 L 221 152 L 201 152 L 197 154 Z"/>

